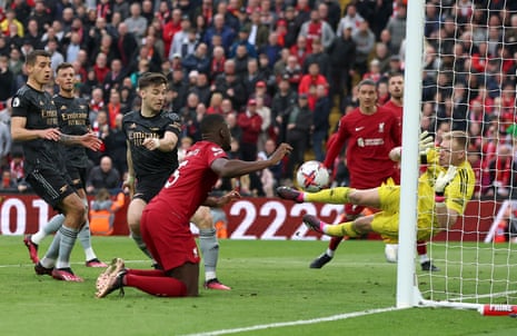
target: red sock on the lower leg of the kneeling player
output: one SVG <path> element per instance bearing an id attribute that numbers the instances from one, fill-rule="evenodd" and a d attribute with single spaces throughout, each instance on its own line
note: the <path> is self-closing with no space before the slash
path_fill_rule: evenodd
<path id="1" fill-rule="evenodd" d="M 187 296 L 187 286 L 175 278 L 162 276 L 141 276 L 127 274 L 126 286 L 135 287 L 150 295 L 165 297 Z"/>

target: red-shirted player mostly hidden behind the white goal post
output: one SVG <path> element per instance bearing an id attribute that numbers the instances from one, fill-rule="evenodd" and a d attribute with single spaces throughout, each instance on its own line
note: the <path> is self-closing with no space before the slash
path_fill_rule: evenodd
<path id="1" fill-rule="evenodd" d="M 394 111 L 397 118 L 402 125 L 402 111 L 404 111 L 404 75 L 402 73 L 391 73 L 388 78 L 388 91 L 389 100 L 384 105 L 385 108 L 388 108 Z M 401 127 L 400 127 L 401 129 Z M 398 241 L 392 241 L 386 237 L 382 237 L 385 246 L 385 256 L 388 263 L 397 263 L 398 259 Z M 427 243 L 418 240 L 417 241 L 417 251 L 420 257 L 421 270 L 431 270 L 438 271 L 439 268 L 433 265 L 431 260 L 427 256 Z"/>

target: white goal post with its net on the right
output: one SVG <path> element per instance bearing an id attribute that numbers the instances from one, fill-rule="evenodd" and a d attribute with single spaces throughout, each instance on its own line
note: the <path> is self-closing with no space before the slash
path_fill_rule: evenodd
<path id="1" fill-rule="evenodd" d="M 508 2 L 509 0 L 506 0 Z M 436 1 L 435 1 L 436 2 Z M 447 18 L 450 20 L 453 18 L 456 24 L 456 34 L 454 39 L 448 39 L 447 42 L 455 45 L 465 45 L 473 48 L 474 43 L 493 43 L 490 39 L 490 29 L 493 26 L 485 23 L 486 27 L 480 27 L 479 23 L 476 23 L 474 29 L 480 28 L 479 31 L 486 31 L 486 34 L 463 34 L 463 30 L 468 27 L 473 29 L 473 26 L 468 26 L 465 20 L 459 20 L 459 11 L 456 6 L 460 1 L 456 0 L 439 0 L 439 20 L 436 22 L 439 27 L 438 30 L 441 30 L 444 24 L 443 21 Z M 473 1 L 475 2 L 475 1 Z M 488 6 L 490 1 L 488 0 Z M 505 3 L 506 3 L 505 2 Z M 510 2 L 508 2 L 510 3 Z M 517 315 L 517 244 L 511 244 L 510 241 L 504 244 L 495 244 L 493 241 L 493 234 L 497 227 L 497 216 L 498 213 L 494 210 L 493 220 L 495 225 L 491 228 L 480 225 L 480 218 L 463 218 L 459 219 L 458 224 L 446 231 L 445 239 L 433 239 L 428 241 L 428 254 L 434 263 L 440 268 L 440 271 L 436 273 L 424 273 L 419 269 L 416 269 L 416 223 L 417 223 L 417 180 L 419 175 L 418 167 L 418 139 L 420 132 L 420 113 L 416 111 L 422 110 L 422 79 L 424 79 L 424 59 L 425 59 L 425 46 L 428 43 L 424 33 L 425 23 L 426 23 L 426 0 L 409 0 L 407 7 L 407 30 L 406 30 L 406 48 L 405 48 L 405 100 L 404 100 L 404 129 L 402 129 L 402 147 L 404 156 L 401 160 L 401 182 L 400 182 L 400 219 L 399 219 L 399 249 L 398 249 L 398 267 L 397 267 L 397 298 L 396 306 L 398 308 L 407 307 L 448 307 L 456 309 L 475 309 L 483 315 Z M 485 11 L 487 17 L 490 17 L 491 13 L 501 14 L 500 9 L 494 9 L 493 7 L 487 7 L 484 9 L 477 9 Z M 493 12 L 491 12 L 493 11 Z M 465 14 L 465 12 L 463 13 Z M 466 13 L 467 16 L 475 16 L 474 11 Z M 508 14 L 505 12 L 505 14 Z M 509 13 L 509 16 L 516 16 L 517 11 Z M 474 18 L 474 17 L 471 17 Z M 470 19 L 471 19 L 470 18 Z M 465 17 L 464 17 L 465 19 Z M 473 20 L 474 21 L 474 20 Z M 497 27 L 501 34 L 505 34 L 508 30 L 509 21 L 501 22 Z M 517 22 L 517 20 L 516 20 Z M 429 23 L 429 22 L 428 22 Z M 493 24 L 490 22 L 490 24 Z M 516 37 L 517 37 L 517 23 L 516 23 Z M 469 37 L 471 40 L 464 41 L 465 37 Z M 479 39 L 485 40 L 479 40 Z M 443 39 L 441 31 L 439 37 L 435 41 L 441 43 Z M 446 39 L 446 38 L 444 38 Z M 475 40 L 478 39 L 478 40 Z M 515 41 L 517 43 L 517 39 Z M 505 49 L 505 38 L 503 36 L 499 45 L 496 45 L 496 50 L 500 51 Z M 500 49 L 499 49 L 500 48 Z M 441 49 L 441 48 L 438 48 Z M 436 69 L 437 77 L 440 75 L 441 65 L 444 58 L 453 59 L 453 65 L 456 67 L 456 55 L 454 52 L 448 55 L 441 55 L 444 49 L 436 50 L 436 56 L 438 68 Z M 466 55 L 469 55 L 471 51 L 467 50 Z M 480 49 L 479 49 L 480 50 Z M 517 48 L 516 48 L 517 50 Z M 488 53 L 486 56 L 486 62 L 488 63 Z M 517 51 L 516 51 L 517 56 Z M 484 57 L 484 55 L 481 55 Z M 501 67 L 499 70 L 503 71 L 503 65 L 505 61 L 505 53 L 500 53 L 497 59 L 494 61 L 499 62 Z M 514 58 L 514 55 L 510 56 Z M 441 60 L 441 62 L 439 62 Z M 467 62 L 473 60 L 467 57 Z M 517 57 L 515 59 L 517 63 Z M 447 85 L 447 88 L 440 87 L 441 82 L 436 81 L 436 91 L 441 89 L 450 89 L 450 92 L 455 92 L 456 80 L 458 78 L 468 78 L 470 80 L 471 73 L 463 72 L 461 68 L 448 69 L 448 76 L 451 77 L 450 82 Z M 517 69 L 517 66 L 516 66 Z M 451 73 L 451 75 L 450 75 Z M 488 86 L 488 80 L 490 76 L 494 76 L 493 72 L 479 73 L 479 77 L 484 78 L 484 82 L 480 86 Z M 476 76 L 477 76 L 476 75 Z M 517 76 L 517 73 L 516 73 Z M 501 76 L 503 77 L 503 76 Z M 515 81 L 515 79 L 514 79 Z M 468 82 L 470 83 L 470 82 Z M 503 79 L 496 81 L 499 85 L 498 90 L 503 90 Z M 515 87 L 514 87 L 515 89 Z M 467 92 L 470 90 L 470 86 L 466 87 Z M 477 92 L 476 92 L 477 93 Z M 451 97 L 456 93 L 451 93 Z M 515 95 L 515 90 L 514 90 Z M 438 96 L 436 96 L 438 97 Z M 454 97 L 453 97 L 454 98 Z M 451 98 L 451 100 L 453 100 Z M 464 108 L 470 110 L 469 100 L 464 103 Z M 484 100 L 485 101 L 485 100 Z M 441 101 L 440 101 L 441 102 Z M 500 108 L 500 101 L 490 106 L 490 108 L 498 109 Z M 434 106 L 438 106 L 438 101 L 434 101 Z M 501 113 L 503 109 L 499 109 Z M 514 113 L 516 113 L 514 109 Z M 469 116 L 469 115 L 468 115 Z M 454 121 L 454 115 L 449 116 L 450 121 Z M 494 119 L 493 119 L 494 120 Z M 517 120 L 517 119 L 515 119 Z M 467 115 L 463 120 L 465 125 L 469 125 L 469 119 Z M 495 122 L 495 127 L 500 129 L 504 125 L 498 125 L 499 121 Z M 514 121 L 515 122 L 515 121 Z M 469 127 L 469 126 L 468 126 Z M 436 130 L 436 129 L 435 129 Z M 514 146 L 511 136 L 504 132 L 496 132 L 494 136 L 496 138 L 496 148 L 507 141 L 508 146 Z M 498 138 L 499 137 L 499 138 Z M 500 140 L 500 141 L 499 141 Z M 485 139 L 484 135 L 480 134 L 479 142 L 485 144 L 489 139 Z M 514 154 L 517 148 L 513 148 Z M 479 151 L 478 155 L 481 159 L 487 159 L 487 154 L 485 151 Z M 497 149 L 496 149 L 497 155 Z M 497 166 L 496 166 L 497 167 Z M 497 168 L 496 168 L 497 169 Z M 507 169 L 507 168 L 506 168 Z M 496 172 L 497 174 L 497 172 Z M 517 176 L 517 175 L 516 175 Z M 510 178 L 511 179 L 511 178 Z M 517 186 L 517 184 L 516 184 Z M 477 186 L 483 188 L 484 186 L 480 182 Z M 499 213 L 503 214 L 504 208 L 509 206 L 515 201 L 505 201 L 501 199 L 500 195 L 497 192 L 490 199 L 487 197 L 477 200 L 479 207 L 483 208 L 486 202 L 496 202 L 499 205 Z M 498 197 L 497 197 L 498 196 Z M 496 198 L 497 197 L 497 198 Z M 501 215 L 499 215 L 501 216 Z M 468 220 L 467 220 L 468 219 Z M 466 223 L 477 223 L 475 229 L 470 226 L 467 226 Z M 455 231 L 455 237 L 460 237 L 459 239 L 449 239 L 449 234 Z M 465 237 L 469 236 L 467 239 Z M 477 239 L 471 239 L 471 236 L 476 236 Z M 468 240 L 468 241 L 467 241 Z"/>

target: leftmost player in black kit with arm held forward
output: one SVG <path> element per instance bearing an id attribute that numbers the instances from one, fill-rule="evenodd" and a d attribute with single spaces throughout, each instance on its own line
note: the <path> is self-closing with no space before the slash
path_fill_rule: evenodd
<path id="1" fill-rule="evenodd" d="M 50 55 L 34 50 L 26 58 L 27 83 L 12 99 L 11 135 L 22 142 L 27 181 L 38 196 L 64 215 L 44 257 L 34 270 L 66 281 L 82 281 L 70 268 L 70 254 L 77 235 L 84 225 L 86 206 L 66 172 L 60 142 L 81 145 L 98 150 L 101 140 L 92 132 L 82 136 L 62 134 L 58 128 L 58 110 L 44 90 L 52 78 Z"/>

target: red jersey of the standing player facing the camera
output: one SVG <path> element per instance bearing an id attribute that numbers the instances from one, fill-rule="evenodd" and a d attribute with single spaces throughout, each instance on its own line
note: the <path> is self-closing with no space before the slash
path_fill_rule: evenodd
<path id="1" fill-rule="evenodd" d="M 389 159 L 389 151 L 400 146 L 400 123 L 391 110 L 377 107 L 377 112 L 368 116 L 356 108 L 341 117 L 337 138 L 328 148 L 325 167 L 332 166 L 345 144 L 350 187 L 374 188 L 389 177 L 399 182 L 397 164 Z"/>

